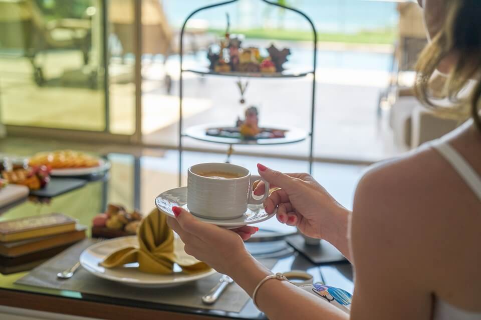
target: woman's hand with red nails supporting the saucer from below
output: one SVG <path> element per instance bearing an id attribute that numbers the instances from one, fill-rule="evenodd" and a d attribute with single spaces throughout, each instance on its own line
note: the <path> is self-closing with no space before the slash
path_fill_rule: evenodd
<path id="1" fill-rule="evenodd" d="M 256 233 L 258 227 L 246 225 L 237 229 L 225 229 L 201 222 L 180 207 L 175 206 L 172 211 L 176 218 L 167 217 L 167 224 L 185 243 L 187 254 L 224 274 L 252 258 L 243 240 Z"/>

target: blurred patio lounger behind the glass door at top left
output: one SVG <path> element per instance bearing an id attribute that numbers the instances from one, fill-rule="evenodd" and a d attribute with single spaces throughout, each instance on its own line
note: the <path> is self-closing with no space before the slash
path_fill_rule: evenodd
<path id="1" fill-rule="evenodd" d="M 88 15 L 86 15 L 88 16 Z M 89 63 L 92 45 L 90 18 L 48 20 L 35 0 L 0 0 L 0 48 L 22 50 L 34 69 L 38 85 L 45 83 L 42 65 L 36 57 L 49 50 L 75 49 Z"/>

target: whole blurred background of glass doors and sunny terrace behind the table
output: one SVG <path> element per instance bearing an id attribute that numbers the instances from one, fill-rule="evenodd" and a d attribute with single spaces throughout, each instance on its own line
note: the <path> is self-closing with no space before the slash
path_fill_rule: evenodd
<path id="1" fill-rule="evenodd" d="M 175 148 L 179 32 L 194 9 L 218 0 L 0 0 L 0 119 L 9 135 Z M 451 128 L 419 111 L 413 65 L 426 43 L 417 3 L 277 0 L 306 12 L 318 33 L 314 156 L 372 162 Z M 289 47 L 287 68 L 312 65 L 313 33 L 293 12 L 239 0 L 186 25 L 184 68 L 207 66 L 230 17 L 243 45 Z M 184 74 L 185 126 L 234 123 L 244 113 L 235 78 Z M 252 79 L 260 121 L 308 129 L 310 76 Z M 192 150 L 225 146 L 186 140 Z M 238 153 L 303 159 L 308 142 L 239 146 Z"/>

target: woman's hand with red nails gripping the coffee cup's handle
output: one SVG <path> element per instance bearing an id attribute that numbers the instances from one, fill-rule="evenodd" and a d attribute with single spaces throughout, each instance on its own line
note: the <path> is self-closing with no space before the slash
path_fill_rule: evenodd
<path id="1" fill-rule="evenodd" d="M 278 207 L 277 219 L 280 222 L 297 226 L 310 237 L 323 238 L 331 243 L 336 242 L 338 237 L 346 237 L 350 211 L 340 205 L 310 174 L 281 173 L 262 164 L 258 164 L 258 169 L 271 187 L 280 188 L 264 201 L 268 213 Z M 254 193 L 262 195 L 264 189 L 264 183 L 260 182 Z M 347 246 L 347 240 L 345 242 L 342 245 Z"/>

